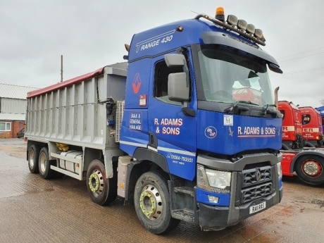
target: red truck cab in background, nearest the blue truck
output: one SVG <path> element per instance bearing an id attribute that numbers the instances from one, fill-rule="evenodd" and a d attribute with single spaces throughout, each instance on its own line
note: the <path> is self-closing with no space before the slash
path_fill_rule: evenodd
<path id="1" fill-rule="evenodd" d="M 301 112 L 289 101 L 279 101 L 278 109 L 282 113 L 282 149 L 298 149 L 306 145 L 302 135 Z"/>

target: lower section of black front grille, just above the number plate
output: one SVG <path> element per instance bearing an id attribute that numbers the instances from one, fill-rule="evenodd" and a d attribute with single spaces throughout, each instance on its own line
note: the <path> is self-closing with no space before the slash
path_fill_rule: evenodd
<path id="1" fill-rule="evenodd" d="M 258 199 L 260 197 L 265 197 L 273 192 L 273 183 L 268 182 L 266 184 L 256 185 L 255 187 L 249 187 L 247 189 L 242 189 L 241 192 L 241 203 L 247 203 Z"/>

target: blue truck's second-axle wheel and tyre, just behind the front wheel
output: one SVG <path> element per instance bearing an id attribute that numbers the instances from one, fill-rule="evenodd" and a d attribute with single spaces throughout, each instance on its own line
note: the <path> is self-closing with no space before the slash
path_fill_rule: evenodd
<path id="1" fill-rule="evenodd" d="M 113 163 L 113 178 L 107 179 L 104 163 L 95 159 L 87 170 L 87 190 L 92 201 L 108 205 L 117 197 L 117 165 Z"/>

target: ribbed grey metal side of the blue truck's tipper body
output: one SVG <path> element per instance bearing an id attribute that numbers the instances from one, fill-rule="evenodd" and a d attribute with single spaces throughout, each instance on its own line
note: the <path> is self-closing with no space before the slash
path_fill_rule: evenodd
<path id="1" fill-rule="evenodd" d="M 98 104 L 98 96 L 121 99 L 125 94 L 125 77 L 109 75 L 110 71 L 106 68 L 98 78 L 29 98 L 26 137 L 88 147 L 108 144 L 106 103 Z"/>

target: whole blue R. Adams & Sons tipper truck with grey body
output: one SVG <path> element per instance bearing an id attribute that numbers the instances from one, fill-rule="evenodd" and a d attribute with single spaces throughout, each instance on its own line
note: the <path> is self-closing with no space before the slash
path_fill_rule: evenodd
<path id="1" fill-rule="evenodd" d="M 154 234 L 180 220 L 221 230 L 278 204 L 268 72 L 282 71 L 264 45 L 221 8 L 134 35 L 127 63 L 28 93 L 30 172 L 85 180 L 96 204 L 121 197 Z"/>

